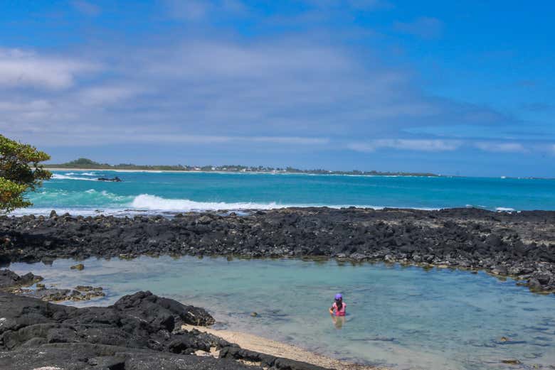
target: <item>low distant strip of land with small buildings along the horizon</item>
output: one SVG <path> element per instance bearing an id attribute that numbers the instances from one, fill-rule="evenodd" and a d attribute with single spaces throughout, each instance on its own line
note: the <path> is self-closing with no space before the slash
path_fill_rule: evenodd
<path id="1" fill-rule="evenodd" d="M 238 173 L 307 173 L 315 175 L 374 175 L 374 176 L 439 176 L 435 173 L 410 173 L 410 172 L 381 172 L 381 171 L 332 171 L 332 170 L 301 170 L 299 168 L 285 167 L 273 168 L 262 165 L 135 165 L 120 163 L 110 165 L 98 163 L 88 158 L 79 158 L 67 163 L 46 164 L 45 168 L 63 168 L 68 170 L 146 170 L 146 171 L 184 171 L 184 172 L 238 172 Z"/>

